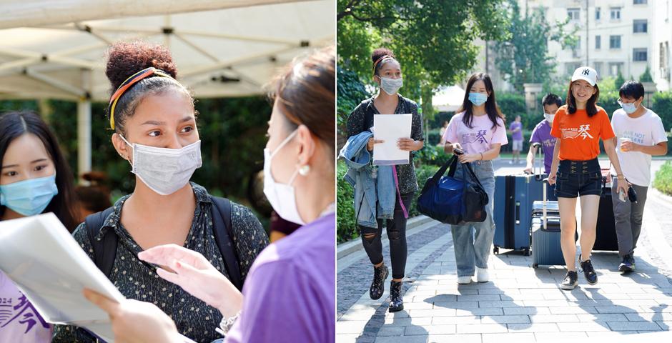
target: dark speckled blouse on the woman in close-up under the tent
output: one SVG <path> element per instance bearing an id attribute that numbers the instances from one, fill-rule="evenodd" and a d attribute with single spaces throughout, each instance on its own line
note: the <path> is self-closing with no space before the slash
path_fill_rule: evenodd
<path id="1" fill-rule="evenodd" d="M 212 202 L 203 187 L 192 182 L 192 188 L 197 204 L 192 228 L 189 229 L 184 247 L 201 253 L 222 274 L 227 275 L 222 254 L 214 241 L 212 218 L 210 217 Z M 222 320 L 222 314 L 217 309 L 192 297 L 179 286 L 160 278 L 151 265 L 138 260 L 137 256 L 142 248 L 121 223 L 122 207 L 128 197 L 128 195 L 122 197 L 114 204 L 114 212 L 107 217 L 107 224 L 102 229 L 103 232 L 113 229 L 119 236 L 117 257 L 109 277 L 110 281 L 125 297 L 157 305 L 173 319 L 177 329 L 184 336 L 196 342 L 212 342 L 214 339 L 221 338 L 222 335 L 214 331 Z M 268 237 L 259 219 L 247 207 L 234 202 L 231 205 L 233 240 L 244 281 L 257 254 L 268 245 Z M 81 249 L 84 249 L 91 259 L 94 259 L 92 245 L 84 223 L 79 224 L 73 236 L 81 245 Z M 96 339 L 84 329 L 56 325 L 52 342 L 96 342 Z"/>

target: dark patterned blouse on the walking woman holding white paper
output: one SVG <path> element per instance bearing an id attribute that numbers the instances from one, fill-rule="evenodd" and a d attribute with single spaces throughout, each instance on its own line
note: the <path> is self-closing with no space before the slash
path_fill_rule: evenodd
<path id="1" fill-rule="evenodd" d="M 423 116 L 417 113 L 417 104 L 415 101 L 399 96 L 399 104 L 394 114 L 412 114 L 412 123 L 410 128 L 410 138 L 416 141 L 425 139 L 423 134 Z M 380 112 L 373 106 L 373 97 L 362 101 L 347 117 L 347 136 L 355 136 L 362 131 L 370 131 L 373 126 L 373 115 Z M 413 166 L 413 156 L 410 154 L 410 164 L 401 164 L 397 166 L 397 177 L 399 178 L 399 192 L 408 194 L 417 192 L 417 179 L 415 179 L 415 166 Z"/>

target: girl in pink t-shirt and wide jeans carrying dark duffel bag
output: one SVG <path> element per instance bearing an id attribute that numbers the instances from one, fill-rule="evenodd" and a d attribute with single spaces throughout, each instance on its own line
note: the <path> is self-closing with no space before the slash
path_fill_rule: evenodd
<path id="1" fill-rule="evenodd" d="M 488 282 L 488 257 L 495 236 L 493 199 L 495 197 L 495 171 L 492 160 L 499 156 L 501 146 L 508 143 L 504 116 L 495 102 L 493 82 L 488 74 L 473 74 L 466 87 L 462 108 L 450 119 L 443 139 L 445 152 L 461 149 L 460 162 L 470 162 L 476 177 L 488 193 L 488 213 L 485 222 L 451 225 L 455 244 L 455 262 L 458 283 L 472 282 L 474 272 L 478 282 Z M 464 177 L 461 165 L 455 172 Z M 475 232 L 475 235 L 474 235 Z"/>

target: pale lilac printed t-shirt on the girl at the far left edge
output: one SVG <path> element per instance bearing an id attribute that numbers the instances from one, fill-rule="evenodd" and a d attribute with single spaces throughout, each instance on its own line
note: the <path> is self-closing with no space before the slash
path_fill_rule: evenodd
<path id="1" fill-rule="evenodd" d="M 51 325 L 0 271 L 0 342 L 49 343 Z"/>

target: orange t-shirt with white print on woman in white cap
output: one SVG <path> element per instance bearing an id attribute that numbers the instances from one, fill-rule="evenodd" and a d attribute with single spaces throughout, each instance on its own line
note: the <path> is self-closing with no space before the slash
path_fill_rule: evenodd
<path id="1" fill-rule="evenodd" d="M 560 139 L 561 160 L 587 161 L 600 154 L 600 139 L 612 139 L 615 135 L 606 111 L 598 106 L 598 113 L 588 117 L 585 109 L 567 113 L 567 106 L 555 112 L 550 134 Z"/>

